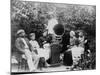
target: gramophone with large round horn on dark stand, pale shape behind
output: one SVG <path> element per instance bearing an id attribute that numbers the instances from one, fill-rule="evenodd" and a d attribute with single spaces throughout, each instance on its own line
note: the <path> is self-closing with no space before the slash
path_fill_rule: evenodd
<path id="1" fill-rule="evenodd" d="M 48 31 L 52 36 L 50 64 L 60 65 L 60 54 L 62 51 L 61 42 L 62 36 L 65 32 L 64 25 L 57 23 L 55 19 L 52 19 L 49 25 L 50 26 L 48 26 Z"/>

